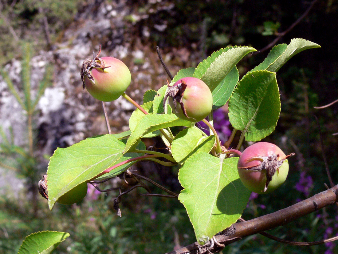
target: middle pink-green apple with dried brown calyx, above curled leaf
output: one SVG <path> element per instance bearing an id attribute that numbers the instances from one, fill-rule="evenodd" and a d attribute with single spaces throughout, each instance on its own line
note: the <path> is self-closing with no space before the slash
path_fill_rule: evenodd
<path id="1" fill-rule="evenodd" d="M 169 87 L 163 104 L 167 99 L 177 117 L 192 122 L 206 118 L 213 105 L 209 87 L 200 79 L 193 77 L 182 78 Z"/>

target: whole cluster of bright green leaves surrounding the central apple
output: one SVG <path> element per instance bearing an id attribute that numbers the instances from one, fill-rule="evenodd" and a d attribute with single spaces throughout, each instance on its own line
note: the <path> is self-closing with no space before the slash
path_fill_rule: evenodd
<path id="1" fill-rule="evenodd" d="M 213 108 L 223 106 L 230 99 L 232 126 L 241 130 L 247 141 L 259 141 L 271 134 L 280 115 L 275 72 L 298 52 L 316 47 L 319 45 L 303 39 L 277 45 L 240 81 L 236 64 L 256 50 L 246 46 L 226 47 L 214 52 L 196 68 L 180 70 L 172 82 L 183 77 L 204 81 L 212 91 Z M 91 137 L 71 147 L 55 150 L 47 171 L 50 209 L 59 197 L 75 186 L 105 177 L 105 170 L 109 171 L 109 177 L 116 176 L 139 156 L 154 153 L 145 150 L 141 138 L 160 135 L 171 148 L 171 155 L 156 152 L 154 155 L 180 165 L 178 179 L 184 190 L 179 194 L 179 200 L 187 209 L 197 241 L 204 244 L 236 222 L 250 195 L 239 180 L 238 158 L 210 154 L 217 137 L 205 135 L 194 123 L 177 118 L 167 105 L 163 107 L 166 88 L 163 86 L 158 91 L 145 93 L 142 107 L 149 114 L 135 110 L 129 120 L 129 131 Z M 170 128 L 175 126 L 187 128 L 174 136 Z"/>

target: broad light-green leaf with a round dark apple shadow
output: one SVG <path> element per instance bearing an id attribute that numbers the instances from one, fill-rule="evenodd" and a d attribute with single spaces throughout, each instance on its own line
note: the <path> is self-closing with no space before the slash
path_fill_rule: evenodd
<path id="1" fill-rule="evenodd" d="M 238 157 L 224 160 L 224 156 L 194 154 L 178 172 L 184 188 L 178 199 L 187 209 L 200 245 L 241 217 L 251 193 L 239 179 Z"/>

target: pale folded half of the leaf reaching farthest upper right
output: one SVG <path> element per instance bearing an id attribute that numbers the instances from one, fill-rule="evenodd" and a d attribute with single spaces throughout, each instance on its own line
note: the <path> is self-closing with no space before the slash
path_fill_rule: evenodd
<path id="1" fill-rule="evenodd" d="M 320 45 L 304 39 L 292 39 L 283 54 L 277 58 L 276 61 L 271 63 L 269 67 L 266 68 L 266 70 L 277 72 L 287 61 L 289 61 L 291 57 L 303 50 L 310 48 L 320 48 Z"/>

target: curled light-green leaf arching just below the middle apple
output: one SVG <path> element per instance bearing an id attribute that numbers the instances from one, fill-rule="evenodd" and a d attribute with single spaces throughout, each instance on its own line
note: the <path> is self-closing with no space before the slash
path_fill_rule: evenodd
<path id="1" fill-rule="evenodd" d="M 131 133 L 124 152 L 127 152 L 142 136 L 155 130 L 160 130 L 173 126 L 190 127 L 194 123 L 182 120 L 175 114 L 148 114 L 141 119 L 136 125 L 135 130 Z"/>

